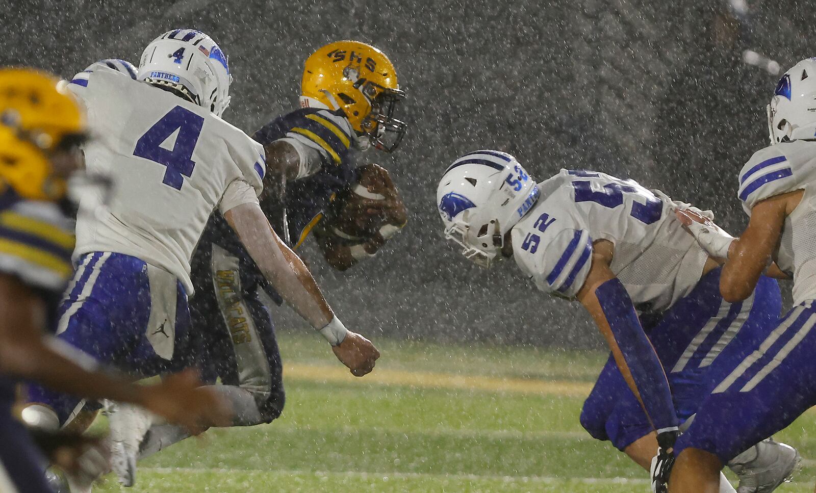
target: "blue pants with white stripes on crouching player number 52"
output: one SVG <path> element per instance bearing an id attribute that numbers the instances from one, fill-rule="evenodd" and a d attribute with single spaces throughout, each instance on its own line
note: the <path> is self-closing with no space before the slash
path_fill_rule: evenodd
<path id="1" fill-rule="evenodd" d="M 720 295 L 721 269 L 703 276 L 688 295 L 664 313 L 641 316 L 641 323 L 663 364 L 677 417 L 687 420 L 726 368 L 743 361 L 778 323 L 779 286 L 761 278 L 752 295 L 728 303 Z M 653 428 L 640 402 L 610 356 L 581 411 L 592 437 L 623 451 Z"/>

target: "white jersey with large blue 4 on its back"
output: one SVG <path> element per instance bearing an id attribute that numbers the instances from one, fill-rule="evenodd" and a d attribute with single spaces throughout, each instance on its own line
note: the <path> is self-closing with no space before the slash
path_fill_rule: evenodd
<path id="1" fill-rule="evenodd" d="M 212 211 L 258 202 L 263 146 L 201 106 L 107 67 L 79 73 L 68 87 L 94 136 L 86 167 L 114 184 L 107 207 L 78 218 L 74 256 L 132 255 L 175 274 L 192 294 L 190 256 Z"/>

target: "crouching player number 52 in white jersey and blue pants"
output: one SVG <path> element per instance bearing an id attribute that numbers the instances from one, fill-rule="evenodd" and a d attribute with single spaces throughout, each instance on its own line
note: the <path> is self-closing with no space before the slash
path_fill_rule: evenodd
<path id="1" fill-rule="evenodd" d="M 722 300 L 718 262 L 673 214 L 689 204 L 632 180 L 561 170 L 536 184 L 509 154 L 480 150 L 446 170 L 437 206 L 463 255 L 482 266 L 512 256 L 541 291 L 588 309 L 612 357 L 581 424 L 645 469 L 656 454 L 672 460 L 677 425 L 696 411 L 710 371 L 743 356 L 735 341 L 778 319 L 773 279 L 746 302 Z M 730 463 L 741 492 L 772 491 L 795 464 L 790 447 L 756 442 Z M 724 478 L 722 487 L 734 491 Z"/>

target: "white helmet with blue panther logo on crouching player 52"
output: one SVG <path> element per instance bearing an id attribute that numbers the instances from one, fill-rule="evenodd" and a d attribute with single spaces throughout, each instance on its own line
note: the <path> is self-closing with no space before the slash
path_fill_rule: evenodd
<path id="1" fill-rule="evenodd" d="M 462 246 L 462 255 L 481 267 L 490 267 L 504 235 L 538 198 L 538 185 L 516 158 L 493 150 L 457 159 L 437 188 L 445 238 Z"/>

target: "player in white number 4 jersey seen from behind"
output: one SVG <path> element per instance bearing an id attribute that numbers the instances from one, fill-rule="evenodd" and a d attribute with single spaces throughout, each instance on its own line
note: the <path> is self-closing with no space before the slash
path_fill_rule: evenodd
<path id="1" fill-rule="evenodd" d="M 187 343 L 190 257 L 218 207 L 264 277 L 337 358 L 354 375 L 370 372 L 377 349 L 339 321 L 259 207 L 264 148 L 220 118 L 232 81 L 220 47 L 175 29 L 144 50 L 138 80 L 120 65 L 95 64 L 68 83 L 99 136 L 83 149 L 86 167 L 109 175 L 115 192 L 107 207 L 80 203 L 78 269 L 57 337 L 137 377 L 175 371 L 174 355 Z M 30 396 L 24 415 L 39 423 L 64 425 L 84 404 L 43 388 Z"/>

